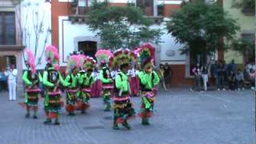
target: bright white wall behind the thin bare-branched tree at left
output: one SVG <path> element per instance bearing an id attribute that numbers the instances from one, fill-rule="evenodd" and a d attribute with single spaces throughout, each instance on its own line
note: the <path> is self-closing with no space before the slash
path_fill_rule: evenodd
<path id="1" fill-rule="evenodd" d="M 35 54 L 36 46 L 36 34 L 35 30 L 40 30 L 38 40 L 38 50 L 36 55 L 36 62 L 42 55 L 42 61 L 39 62 L 37 69 L 44 69 L 46 61 L 44 57 L 44 44 L 46 46 L 51 44 L 51 5 L 45 0 L 24 0 L 21 4 L 21 25 L 23 33 L 23 45 L 26 46 L 24 50 L 26 59 L 26 50 L 32 50 Z M 38 13 L 38 14 L 37 14 Z M 41 27 L 40 29 L 34 28 L 35 26 Z M 48 33 L 48 34 L 47 34 Z M 23 69 L 26 69 L 25 63 L 23 63 Z"/>

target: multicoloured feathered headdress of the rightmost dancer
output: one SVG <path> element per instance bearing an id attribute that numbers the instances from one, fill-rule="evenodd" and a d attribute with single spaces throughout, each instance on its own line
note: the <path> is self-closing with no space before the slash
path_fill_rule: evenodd
<path id="1" fill-rule="evenodd" d="M 136 50 L 138 52 L 138 62 L 142 66 L 142 68 L 154 65 L 154 46 L 150 45 L 149 43 L 146 43 L 142 45 L 141 48 L 138 48 Z"/>

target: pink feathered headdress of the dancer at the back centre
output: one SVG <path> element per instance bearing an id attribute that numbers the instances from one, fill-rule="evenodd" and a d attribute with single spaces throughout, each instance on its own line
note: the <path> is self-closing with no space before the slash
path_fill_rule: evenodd
<path id="1" fill-rule="evenodd" d="M 110 50 L 98 50 L 95 54 L 97 62 L 108 63 L 113 54 Z"/>

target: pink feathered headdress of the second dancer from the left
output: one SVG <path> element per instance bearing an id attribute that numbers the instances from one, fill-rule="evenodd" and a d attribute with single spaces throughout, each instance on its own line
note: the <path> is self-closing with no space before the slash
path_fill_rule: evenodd
<path id="1" fill-rule="evenodd" d="M 57 48 L 55 46 L 47 46 L 45 54 L 46 62 L 52 64 L 58 70 L 59 54 Z"/>

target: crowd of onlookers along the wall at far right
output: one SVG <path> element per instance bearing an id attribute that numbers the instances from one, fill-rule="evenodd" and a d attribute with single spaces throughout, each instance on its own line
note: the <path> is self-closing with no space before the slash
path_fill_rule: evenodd
<path id="1" fill-rule="evenodd" d="M 241 70 L 234 60 L 230 64 L 226 62 L 214 62 L 211 65 L 194 66 L 192 73 L 195 77 L 195 85 L 190 90 L 207 90 L 207 86 L 216 86 L 217 90 L 244 90 L 254 89 L 255 84 L 255 64 L 246 64 Z"/>

